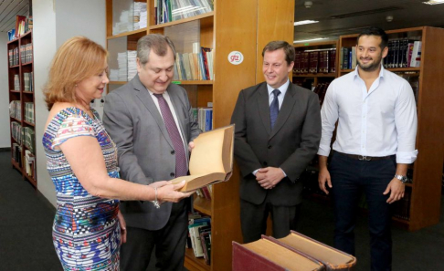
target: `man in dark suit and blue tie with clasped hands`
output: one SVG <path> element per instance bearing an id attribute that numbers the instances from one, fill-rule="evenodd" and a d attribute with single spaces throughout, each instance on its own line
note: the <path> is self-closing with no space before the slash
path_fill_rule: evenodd
<path id="1" fill-rule="evenodd" d="M 264 235 L 269 213 L 273 236 L 295 229 L 302 183 L 298 180 L 321 140 L 319 99 L 291 84 L 294 48 L 272 41 L 262 51 L 266 82 L 243 89 L 231 118 L 236 123 L 235 157 L 240 182 L 244 242 Z"/>

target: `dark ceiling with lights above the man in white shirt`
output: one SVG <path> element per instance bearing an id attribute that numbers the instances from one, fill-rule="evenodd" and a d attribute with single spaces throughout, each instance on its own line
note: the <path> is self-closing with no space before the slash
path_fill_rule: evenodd
<path id="1" fill-rule="evenodd" d="M 282 0 L 279 0 L 282 1 Z M 294 21 L 316 20 L 319 23 L 294 26 L 294 40 L 359 33 L 367 26 L 384 30 L 414 26 L 444 26 L 444 4 L 425 5 L 425 0 L 312 0 L 305 8 L 305 0 L 295 1 Z M 332 18 L 332 16 L 345 16 Z M 386 16 L 393 21 L 386 22 Z"/>

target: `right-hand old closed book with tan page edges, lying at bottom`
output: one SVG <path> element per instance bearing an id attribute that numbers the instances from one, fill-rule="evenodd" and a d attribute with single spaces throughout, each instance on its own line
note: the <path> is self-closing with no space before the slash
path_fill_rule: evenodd
<path id="1" fill-rule="evenodd" d="M 326 270 L 354 270 L 356 258 L 329 245 L 313 240 L 310 237 L 291 231 L 290 235 L 277 239 L 288 248 L 300 252 L 302 255 L 310 255 L 322 262 Z"/>

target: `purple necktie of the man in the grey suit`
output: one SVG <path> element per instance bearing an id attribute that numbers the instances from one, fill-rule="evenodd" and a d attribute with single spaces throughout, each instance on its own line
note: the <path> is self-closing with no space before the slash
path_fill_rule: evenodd
<path id="1" fill-rule="evenodd" d="M 170 107 L 164 99 L 164 96 L 162 94 L 154 94 L 154 96 L 159 101 L 159 108 L 161 109 L 162 117 L 164 118 L 166 130 L 168 130 L 170 140 L 173 142 L 173 154 L 175 154 L 175 177 L 185 176 L 188 170 L 186 168 L 184 142 L 180 137 L 177 125 L 175 125 L 173 114 L 171 113 Z"/>

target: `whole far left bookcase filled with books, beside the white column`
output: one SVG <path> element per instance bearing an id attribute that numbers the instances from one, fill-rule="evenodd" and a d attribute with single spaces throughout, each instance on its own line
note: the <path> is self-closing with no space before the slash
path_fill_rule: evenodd
<path id="1" fill-rule="evenodd" d="M 11 50 L 16 50 L 16 54 Z M 37 187 L 32 30 L 9 41 L 7 51 L 9 102 L 14 102 L 10 104 L 9 117 L 11 163 L 24 179 Z"/>

